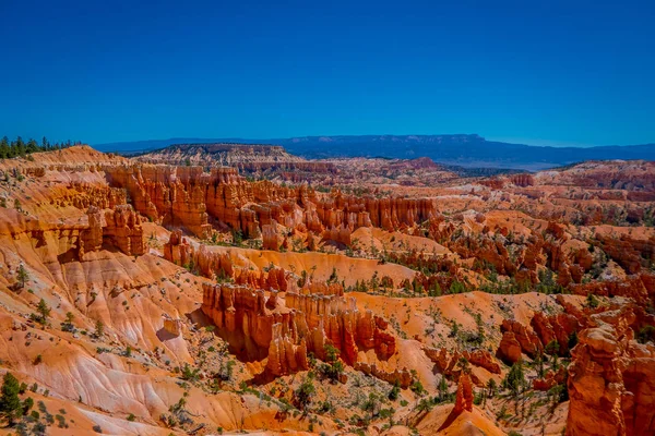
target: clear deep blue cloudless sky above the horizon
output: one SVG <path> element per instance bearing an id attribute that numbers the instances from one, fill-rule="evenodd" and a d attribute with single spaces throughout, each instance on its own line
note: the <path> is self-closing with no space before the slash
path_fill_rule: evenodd
<path id="1" fill-rule="evenodd" d="M 653 0 L 0 0 L 0 135 L 655 142 Z"/>

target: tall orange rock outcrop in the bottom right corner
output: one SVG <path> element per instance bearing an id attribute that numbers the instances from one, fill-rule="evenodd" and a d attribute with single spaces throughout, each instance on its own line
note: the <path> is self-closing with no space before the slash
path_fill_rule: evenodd
<path id="1" fill-rule="evenodd" d="M 633 341 L 634 312 L 592 315 L 569 366 L 567 435 L 655 433 L 655 348 Z"/>

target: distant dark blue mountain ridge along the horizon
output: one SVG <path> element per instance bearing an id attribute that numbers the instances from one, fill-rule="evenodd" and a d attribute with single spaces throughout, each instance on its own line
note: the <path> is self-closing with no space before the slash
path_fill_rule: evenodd
<path id="1" fill-rule="evenodd" d="M 175 144 L 239 143 L 279 145 L 290 154 L 310 159 L 335 157 L 429 157 L 436 162 L 468 168 L 540 170 L 582 160 L 655 160 L 655 144 L 551 147 L 487 141 L 476 134 L 449 135 L 333 135 L 272 140 L 170 138 L 111 144 L 96 148 L 115 153 L 143 153 Z"/>

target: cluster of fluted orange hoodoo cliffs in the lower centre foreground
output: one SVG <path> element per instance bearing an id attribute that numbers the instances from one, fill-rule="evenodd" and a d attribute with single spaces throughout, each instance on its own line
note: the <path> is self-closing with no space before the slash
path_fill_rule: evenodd
<path id="1" fill-rule="evenodd" d="M 307 286 L 282 298 L 277 291 L 266 294 L 248 286 L 205 284 L 202 311 L 245 359 L 267 358 L 266 372 L 275 376 L 307 370 L 308 352 L 325 360 L 327 344 L 348 365 L 356 365 L 359 350 L 373 349 L 380 360 L 396 352 L 388 323 L 371 311 L 359 311 L 336 283 Z M 378 372 L 368 367 L 370 374 Z M 403 386 L 410 379 L 402 373 L 394 377 Z"/>

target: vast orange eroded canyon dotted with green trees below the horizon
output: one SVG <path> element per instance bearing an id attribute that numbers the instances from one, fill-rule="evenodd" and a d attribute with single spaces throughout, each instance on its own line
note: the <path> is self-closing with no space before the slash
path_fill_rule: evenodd
<path id="1" fill-rule="evenodd" d="M 653 162 L 81 145 L 0 206 L 0 434 L 655 434 Z"/>

